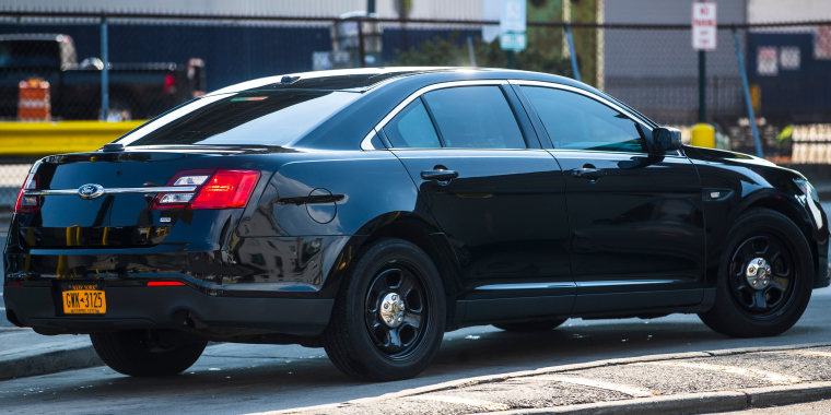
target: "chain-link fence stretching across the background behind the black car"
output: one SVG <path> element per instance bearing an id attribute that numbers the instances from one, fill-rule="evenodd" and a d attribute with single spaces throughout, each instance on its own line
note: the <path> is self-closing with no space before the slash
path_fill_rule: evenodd
<path id="1" fill-rule="evenodd" d="M 583 82 L 658 123 L 681 128 L 689 141 L 700 109 L 699 54 L 691 47 L 690 26 L 573 23 L 572 50 L 564 23 L 528 22 L 528 48 L 512 58 L 492 37 L 495 23 L 401 22 L 361 13 L 105 17 L 0 12 L 0 121 L 148 119 L 250 79 L 362 62 L 513 64 L 574 76 L 575 57 Z M 716 128 L 717 146 L 756 153 L 738 39 L 763 154 L 777 163 L 831 162 L 816 150 L 817 143 L 831 143 L 831 22 L 740 25 L 735 36 L 733 27 L 717 33 L 717 48 L 705 54 L 704 66 L 705 119 Z M 109 96 L 104 110 L 103 91 Z M 815 150 L 801 146 L 804 137 Z M 0 161 L 0 213 L 13 205 L 27 169 L 21 166 L 27 164 Z"/>

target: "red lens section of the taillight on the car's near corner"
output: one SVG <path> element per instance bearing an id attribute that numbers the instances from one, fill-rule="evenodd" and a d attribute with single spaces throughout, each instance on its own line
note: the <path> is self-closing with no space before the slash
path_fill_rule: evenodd
<path id="1" fill-rule="evenodd" d="M 257 170 L 218 170 L 202 185 L 187 209 L 245 208 L 259 176 Z"/>

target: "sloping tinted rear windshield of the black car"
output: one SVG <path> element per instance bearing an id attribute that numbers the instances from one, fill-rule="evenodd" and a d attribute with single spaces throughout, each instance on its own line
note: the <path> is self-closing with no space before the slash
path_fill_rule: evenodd
<path id="1" fill-rule="evenodd" d="M 361 94 L 267 91 L 206 96 L 117 140 L 124 145 L 286 145 Z"/>

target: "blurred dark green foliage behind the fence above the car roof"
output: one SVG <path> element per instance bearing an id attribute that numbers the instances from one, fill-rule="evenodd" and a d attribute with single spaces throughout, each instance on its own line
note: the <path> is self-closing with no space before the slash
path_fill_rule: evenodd
<path id="1" fill-rule="evenodd" d="M 480 38 L 473 40 L 473 56 L 480 68 L 507 68 L 507 52 L 500 48 L 499 39 L 484 43 Z M 564 58 L 549 58 L 540 50 L 529 47 L 515 54 L 516 69 L 553 73 L 572 76 L 571 62 Z M 449 38 L 440 36 L 426 40 L 406 51 L 396 51 L 396 59 L 389 62 L 391 67 L 469 67 L 470 52 L 468 44 L 460 42 L 458 32 Z"/>

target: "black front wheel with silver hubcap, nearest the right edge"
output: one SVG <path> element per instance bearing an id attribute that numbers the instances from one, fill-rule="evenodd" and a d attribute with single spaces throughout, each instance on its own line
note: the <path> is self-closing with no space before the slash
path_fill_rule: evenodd
<path id="1" fill-rule="evenodd" d="M 737 337 L 772 336 L 794 327 L 808 306 L 814 281 L 810 246 L 796 224 L 776 211 L 756 209 L 736 221 L 725 247 L 716 301 L 699 315 L 701 321 Z M 753 270 L 756 277 L 749 276 Z"/>

